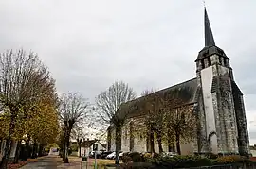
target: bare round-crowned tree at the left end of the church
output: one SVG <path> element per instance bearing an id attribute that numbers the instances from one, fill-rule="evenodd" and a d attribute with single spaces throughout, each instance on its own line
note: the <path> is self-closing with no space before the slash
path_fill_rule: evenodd
<path id="1" fill-rule="evenodd" d="M 123 81 L 116 81 L 108 90 L 99 94 L 96 98 L 97 112 L 101 120 L 106 124 L 113 124 L 116 128 L 116 163 L 119 163 L 118 152 L 121 146 L 121 127 L 127 113 L 123 110 L 117 113 L 122 103 L 136 98 L 136 93 Z"/>

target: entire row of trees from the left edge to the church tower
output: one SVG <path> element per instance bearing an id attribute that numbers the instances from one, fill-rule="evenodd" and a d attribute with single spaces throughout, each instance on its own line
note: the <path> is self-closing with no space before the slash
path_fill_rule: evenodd
<path id="1" fill-rule="evenodd" d="M 121 104 L 137 98 L 135 91 L 128 84 L 116 81 L 97 96 L 96 107 L 92 107 L 87 99 L 77 93 L 67 93 L 58 97 L 54 79 L 34 53 L 20 50 L 1 54 L 0 68 L 0 139 L 7 141 L 0 168 L 6 168 L 11 142 L 14 140 L 18 143 L 16 161 L 22 141 L 26 142 L 27 147 L 32 141 L 35 147 L 32 154 L 35 155 L 46 144 L 52 144 L 58 138 L 64 152 L 64 162 L 68 162 L 70 138 L 73 135 L 81 146 L 82 127 L 87 125 L 88 121 L 93 121 L 90 124 L 101 122 L 104 127 L 114 125 L 116 151 L 119 151 L 121 127 L 127 119 L 126 110 L 128 112 L 129 108 L 126 107 L 122 113 L 117 111 Z M 145 91 L 142 95 L 153 92 Z M 170 138 L 172 142 L 175 141 L 180 152 L 180 138 L 188 138 L 191 135 L 191 132 L 187 132 L 194 122 L 192 113 L 187 112 L 190 109 L 173 109 L 174 101 L 168 102 L 161 97 L 146 98 L 148 100 L 144 111 L 149 118 L 145 125 L 151 133 L 152 152 L 155 151 L 154 135 L 156 134 L 159 150 L 162 151 L 161 143 L 165 133 L 168 133 L 170 143 Z M 97 112 L 97 115 L 91 112 Z M 116 160 L 118 162 L 118 159 Z"/>

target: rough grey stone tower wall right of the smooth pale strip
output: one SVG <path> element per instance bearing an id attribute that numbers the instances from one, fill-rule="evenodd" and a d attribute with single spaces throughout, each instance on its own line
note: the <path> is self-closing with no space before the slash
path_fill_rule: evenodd
<path id="1" fill-rule="evenodd" d="M 212 81 L 212 94 L 215 96 L 215 121 L 217 127 L 218 152 L 238 152 L 237 127 L 234 102 L 232 98 L 229 68 L 220 65 L 213 66 L 214 77 Z"/>

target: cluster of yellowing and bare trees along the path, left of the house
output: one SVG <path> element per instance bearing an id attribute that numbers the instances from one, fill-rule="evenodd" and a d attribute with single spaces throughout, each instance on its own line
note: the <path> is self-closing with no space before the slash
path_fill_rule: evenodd
<path id="1" fill-rule="evenodd" d="M 48 69 L 32 52 L 0 54 L 0 68 L 0 140 L 6 141 L 0 169 L 7 168 L 14 143 L 14 163 L 21 154 L 26 161 L 54 143 L 63 148 L 64 162 L 68 162 L 71 134 L 82 143 L 82 126 L 90 112 L 87 100 L 77 93 L 59 96 Z"/>

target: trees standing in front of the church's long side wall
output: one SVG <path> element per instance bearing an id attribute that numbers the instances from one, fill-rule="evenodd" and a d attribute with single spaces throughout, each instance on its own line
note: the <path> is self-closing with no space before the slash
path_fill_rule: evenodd
<path id="1" fill-rule="evenodd" d="M 180 142 L 191 141 L 196 133 L 196 116 L 193 114 L 193 105 L 186 105 L 182 99 L 164 98 L 154 93 L 154 90 L 145 90 L 141 93 L 144 97 L 144 105 L 139 110 L 144 112 L 145 120 L 141 126 L 146 126 L 144 133 L 149 135 L 151 152 L 155 152 L 155 136 L 162 152 L 162 143 L 167 142 L 171 150 L 176 145 L 177 153 L 180 154 Z M 184 94 L 188 94 L 185 92 Z M 187 95 L 188 96 L 188 95 Z M 97 112 L 101 121 L 116 128 L 115 142 L 116 152 L 121 148 L 121 127 L 131 112 L 133 104 L 125 104 L 120 113 L 117 113 L 121 104 L 136 99 L 135 91 L 122 81 L 115 82 L 108 90 L 98 95 L 96 99 Z M 185 96 L 186 97 L 186 96 Z M 178 106 L 178 107 L 177 107 Z M 136 108 L 137 109 L 137 108 Z M 136 132 L 143 132 L 137 127 Z M 150 134 L 148 134 L 150 133 Z M 174 149 L 174 148 L 173 148 Z M 116 157 L 116 163 L 119 163 Z"/>

